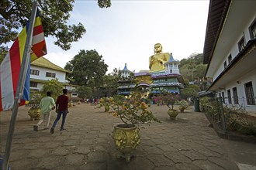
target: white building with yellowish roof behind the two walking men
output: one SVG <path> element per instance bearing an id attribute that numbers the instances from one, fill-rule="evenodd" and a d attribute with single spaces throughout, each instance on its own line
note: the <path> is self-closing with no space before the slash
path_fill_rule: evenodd
<path id="1" fill-rule="evenodd" d="M 71 93 L 71 97 L 77 97 L 77 94 L 72 93 L 74 86 L 71 86 L 66 80 L 66 73 L 71 73 L 71 71 L 64 70 L 44 57 L 40 57 L 33 61 L 30 66 L 30 90 L 42 90 L 43 84 L 47 80 L 57 79 Z"/>

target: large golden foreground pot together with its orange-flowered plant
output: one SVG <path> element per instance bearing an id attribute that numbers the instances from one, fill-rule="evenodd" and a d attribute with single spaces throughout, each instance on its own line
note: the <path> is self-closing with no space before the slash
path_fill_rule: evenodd
<path id="1" fill-rule="evenodd" d="M 100 100 L 99 107 L 109 105 L 109 114 L 118 117 L 122 124 L 117 124 L 112 131 L 112 138 L 115 141 L 120 157 L 126 158 L 130 162 L 133 150 L 140 144 L 140 124 L 150 124 L 152 121 L 160 122 L 154 117 L 152 111 L 147 110 L 147 104 L 142 100 L 146 93 L 135 91 L 129 97 L 115 95 Z"/>

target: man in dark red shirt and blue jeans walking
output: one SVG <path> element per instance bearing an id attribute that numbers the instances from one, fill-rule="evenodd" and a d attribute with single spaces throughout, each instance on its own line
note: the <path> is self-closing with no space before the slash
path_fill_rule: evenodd
<path id="1" fill-rule="evenodd" d="M 62 122 L 61 122 L 61 131 L 64 131 L 64 124 L 66 121 L 67 113 L 68 113 L 68 97 L 67 97 L 67 89 L 62 90 L 63 94 L 57 97 L 56 101 L 56 113 L 57 117 L 54 121 L 52 128 L 50 128 L 50 133 L 54 134 L 54 128 L 57 125 L 57 122 L 60 120 L 62 115 Z"/>

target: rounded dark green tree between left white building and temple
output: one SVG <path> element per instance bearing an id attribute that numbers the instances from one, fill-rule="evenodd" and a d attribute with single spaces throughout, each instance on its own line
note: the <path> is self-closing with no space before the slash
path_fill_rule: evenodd
<path id="1" fill-rule="evenodd" d="M 72 71 L 67 76 L 74 80 L 74 84 L 94 89 L 102 86 L 108 65 L 95 49 L 86 52 L 83 49 L 66 64 L 65 69 Z"/>

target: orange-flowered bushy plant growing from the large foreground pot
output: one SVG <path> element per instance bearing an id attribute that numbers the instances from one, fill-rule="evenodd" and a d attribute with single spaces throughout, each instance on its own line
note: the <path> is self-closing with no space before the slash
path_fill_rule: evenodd
<path id="1" fill-rule="evenodd" d="M 145 124 L 151 121 L 160 122 L 157 117 L 154 117 L 152 111 L 147 110 L 147 104 L 142 100 L 145 93 L 135 91 L 130 93 L 129 97 L 115 95 L 106 100 L 99 100 L 100 106 L 109 104 L 109 114 L 120 118 L 124 124 Z"/>

